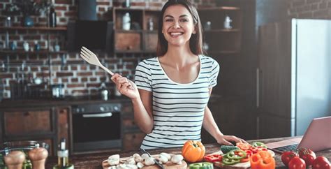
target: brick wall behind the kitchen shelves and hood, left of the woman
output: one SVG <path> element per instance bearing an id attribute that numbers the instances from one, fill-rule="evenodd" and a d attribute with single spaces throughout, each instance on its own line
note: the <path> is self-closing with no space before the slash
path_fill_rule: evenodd
<path id="1" fill-rule="evenodd" d="M 4 25 L 6 15 L 2 12 L 15 0 L 2 0 L 0 2 L 0 25 Z M 57 13 L 58 27 L 66 27 L 69 20 L 77 18 L 78 0 L 51 0 Z M 112 6 L 120 6 L 123 1 L 97 0 L 97 15 L 99 20 L 108 20 L 108 9 Z M 143 6 L 145 8 L 161 8 L 165 0 L 131 0 L 131 6 Z M 196 6 L 213 5 L 214 0 L 194 0 Z M 22 15 L 12 15 L 13 26 L 20 26 Z M 47 15 L 41 13 L 32 16 L 35 26 L 47 26 Z M 10 30 L 9 43 L 15 41 L 17 50 L 23 50 L 23 43 L 29 43 L 30 49 L 34 48 L 35 41 L 41 45 L 41 50 L 53 50 L 54 45 L 60 45 L 61 50 L 66 50 L 66 31 L 27 31 Z M 49 38 L 49 41 L 48 41 Z M 0 31 L 0 50 L 8 49 L 5 44 L 6 31 Z M 139 61 L 147 57 L 154 57 L 145 54 L 117 54 L 109 56 L 99 55 L 101 62 L 112 71 L 122 73 L 133 79 L 135 66 Z M 45 85 L 43 91 L 50 94 L 50 84 L 64 84 L 66 96 L 87 96 L 98 94 L 101 82 L 106 82 L 111 92 L 115 87 L 110 82 L 109 75 L 101 68 L 84 64 L 78 53 L 59 54 L 2 54 L 0 55 L 0 88 L 3 86 L 3 98 L 10 98 L 10 84 L 21 80 L 30 82 L 41 78 Z M 2 85 L 1 85 L 2 83 Z M 1 90 L 1 89 L 0 89 Z"/>

